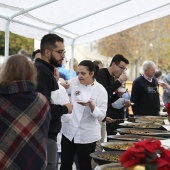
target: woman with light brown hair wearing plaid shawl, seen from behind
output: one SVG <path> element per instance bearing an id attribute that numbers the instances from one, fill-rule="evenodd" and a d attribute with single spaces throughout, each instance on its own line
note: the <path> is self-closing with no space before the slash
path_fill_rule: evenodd
<path id="1" fill-rule="evenodd" d="M 50 113 L 34 92 L 36 70 L 25 56 L 11 56 L 0 72 L 0 169 L 45 170 Z"/>

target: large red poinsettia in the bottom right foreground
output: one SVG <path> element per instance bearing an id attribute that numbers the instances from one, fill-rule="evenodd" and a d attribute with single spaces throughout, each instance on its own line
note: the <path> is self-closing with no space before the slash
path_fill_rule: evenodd
<path id="1" fill-rule="evenodd" d="M 170 170 L 170 151 L 154 138 L 134 143 L 125 151 L 120 160 L 125 168 L 145 165 L 145 170 Z"/>

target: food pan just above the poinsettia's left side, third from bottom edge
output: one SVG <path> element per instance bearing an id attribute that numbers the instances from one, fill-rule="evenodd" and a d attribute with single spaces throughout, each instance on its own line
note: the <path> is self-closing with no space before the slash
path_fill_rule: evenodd
<path id="1" fill-rule="evenodd" d="M 111 142 L 104 142 L 100 145 L 105 151 L 126 151 L 128 148 L 133 146 L 133 143 L 133 141 L 112 140 Z"/>

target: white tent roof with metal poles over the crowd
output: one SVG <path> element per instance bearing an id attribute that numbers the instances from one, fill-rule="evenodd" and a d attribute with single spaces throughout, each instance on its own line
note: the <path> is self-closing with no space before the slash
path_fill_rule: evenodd
<path id="1" fill-rule="evenodd" d="M 170 0 L 0 0 L 0 30 L 82 44 L 169 14 Z"/>

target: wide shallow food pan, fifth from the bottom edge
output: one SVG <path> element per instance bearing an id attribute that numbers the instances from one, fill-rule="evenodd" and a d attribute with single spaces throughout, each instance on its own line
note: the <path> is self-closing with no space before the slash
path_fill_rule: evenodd
<path id="1" fill-rule="evenodd" d="M 120 134 L 170 137 L 170 132 L 155 129 L 119 128 L 117 129 L 117 132 L 119 132 Z"/>

